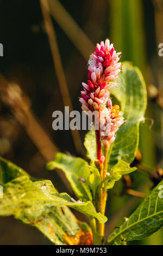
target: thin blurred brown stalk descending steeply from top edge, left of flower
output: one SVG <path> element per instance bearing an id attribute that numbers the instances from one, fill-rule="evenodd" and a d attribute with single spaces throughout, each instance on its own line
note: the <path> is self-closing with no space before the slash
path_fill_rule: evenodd
<path id="1" fill-rule="evenodd" d="M 49 44 L 51 46 L 54 67 L 55 67 L 55 71 L 56 71 L 58 82 L 59 82 L 59 87 L 60 87 L 60 92 L 61 92 L 61 95 L 62 95 L 62 100 L 64 102 L 64 105 L 69 106 L 70 111 L 72 111 L 73 106 L 72 106 L 72 103 L 71 103 L 70 94 L 68 92 L 68 87 L 67 87 L 67 82 L 66 82 L 64 70 L 62 68 L 61 57 L 60 57 L 60 53 L 59 53 L 58 43 L 57 43 L 57 39 L 56 39 L 52 19 L 51 19 L 51 16 L 49 14 L 48 1 L 47 0 L 40 0 L 40 4 L 41 4 L 41 9 L 42 9 L 43 19 L 44 19 L 44 22 L 45 22 L 46 32 L 47 32 L 47 35 L 48 35 Z M 76 151 L 79 154 L 84 155 L 83 144 L 82 144 L 82 140 L 80 138 L 79 131 L 78 130 L 71 130 L 71 134 L 72 134 L 74 146 L 76 147 Z"/>

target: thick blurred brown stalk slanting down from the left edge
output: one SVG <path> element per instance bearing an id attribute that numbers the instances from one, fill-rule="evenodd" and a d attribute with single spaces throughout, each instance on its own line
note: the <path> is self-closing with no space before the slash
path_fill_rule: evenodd
<path id="1" fill-rule="evenodd" d="M 14 114 L 17 121 L 38 148 L 42 157 L 47 162 L 53 160 L 58 147 L 54 145 L 49 134 L 36 120 L 32 110 L 30 110 L 28 97 L 22 92 L 20 86 L 8 82 L 2 74 L 0 74 L 0 98 L 10 108 L 12 114 Z M 65 175 L 58 170 L 57 172 L 68 192 L 71 192 L 70 184 L 66 180 Z"/>

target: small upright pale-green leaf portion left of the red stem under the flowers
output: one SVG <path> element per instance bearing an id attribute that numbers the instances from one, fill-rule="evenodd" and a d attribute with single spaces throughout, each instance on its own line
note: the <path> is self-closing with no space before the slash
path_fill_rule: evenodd
<path id="1" fill-rule="evenodd" d="M 92 129 L 85 135 L 84 146 L 87 150 L 87 153 L 86 153 L 87 158 L 89 158 L 91 162 L 95 162 L 97 158 L 95 130 Z"/>

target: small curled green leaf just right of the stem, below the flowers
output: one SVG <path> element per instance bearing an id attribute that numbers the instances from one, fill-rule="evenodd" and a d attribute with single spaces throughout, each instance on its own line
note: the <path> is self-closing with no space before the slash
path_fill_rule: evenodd
<path id="1" fill-rule="evenodd" d="M 120 160 L 114 167 L 111 168 L 110 175 L 105 178 L 104 186 L 105 189 L 111 189 L 114 187 L 116 181 L 120 180 L 122 175 L 130 174 L 136 170 L 136 167 L 130 168 L 129 164 Z"/>

